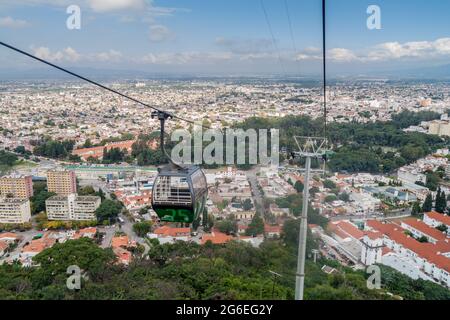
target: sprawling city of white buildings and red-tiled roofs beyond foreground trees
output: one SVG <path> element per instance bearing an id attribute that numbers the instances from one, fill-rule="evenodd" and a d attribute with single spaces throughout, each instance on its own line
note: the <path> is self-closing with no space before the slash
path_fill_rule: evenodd
<path id="1" fill-rule="evenodd" d="M 296 121 L 312 127 L 322 121 L 320 86 L 314 83 L 192 79 L 110 86 L 215 128 L 248 128 L 258 118 L 292 123 L 280 125 L 282 150 L 293 143 L 283 145 L 283 130 L 296 132 Z M 157 166 L 164 162 L 151 110 L 78 83 L 4 82 L 0 90 L 2 264 L 36 268 L 56 244 L 85 237 L 111 248 L 125 267 L 155 246 L 180 242 L 259 248 L 286 241 L 301 214 L 302 166 L 282 152 L 279 167 L 206 167 L 202 219 L 192 225 L 162 222 L 151 207 Z M 449 90 L 445 82 L 369 80 L 330 88 L 328 121 L 336 130 L 394 123 L 401 137 L 421 135 L 431 142 L 426 152 L 375 142 L 368 146 L 372 152 L 402 160 L 389 169 L 381 164 L 353 170 L 352 163 L 336 164 L 347 146 L 331 134 L 334 155 L 325 171 L 316 169 L 310 189 L 309 230 L 317 247 L 308 256 L 321 259 L 322 272 L 378 264 L 411 280 L 450 287 Z M 169 130 L 182 125 L 169 122 Z"/>

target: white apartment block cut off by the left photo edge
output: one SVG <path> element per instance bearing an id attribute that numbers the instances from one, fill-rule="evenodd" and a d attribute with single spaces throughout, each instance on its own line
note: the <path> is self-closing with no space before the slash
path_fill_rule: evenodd
<path id="1" fill-rule="evenodd" d="M 0 198 L 0 223 L 25 223 L 31 219 L 30 200 Z"/>

